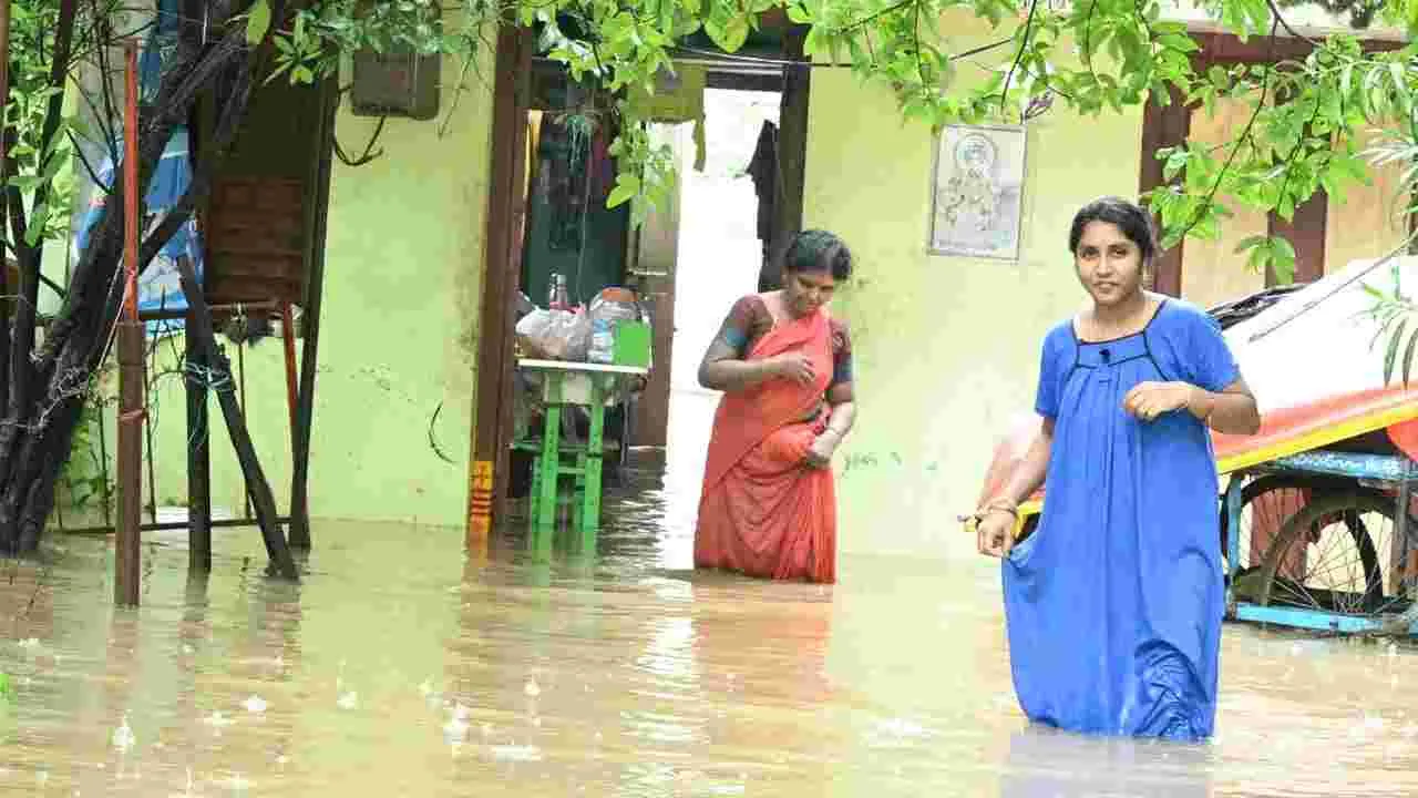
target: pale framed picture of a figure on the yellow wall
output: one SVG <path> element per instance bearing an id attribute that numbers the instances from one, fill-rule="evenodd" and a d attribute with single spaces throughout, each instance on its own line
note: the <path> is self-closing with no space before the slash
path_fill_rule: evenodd
<path id="1" fill-rule="evenodd" d="M 1024 149 L 1018 125 L 947 125 L 930 182 L 930 254 L 1020 258 Z"/>

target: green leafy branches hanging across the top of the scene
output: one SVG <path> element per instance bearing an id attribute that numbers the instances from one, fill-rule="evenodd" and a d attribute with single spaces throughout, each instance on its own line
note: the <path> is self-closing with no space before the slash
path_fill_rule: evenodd
<path id="1" fill-rule="evenodd" d="M 1276 0 L 1202 6 L 1242 38 L 1305 38 Z M 1418 0 L 1327 0 L 1326 7 L 1361 26 L 1418 24 Z M 1157 153 L 1167 183 L 1147 199 L 1168 246 L 1185 236 L 1215 237 L 1236 206 L 1290 219 L 1319 189 L 1343 200 L 1347 187 L 1367 180 L 1366 142 L 1374 129 L 1412 139 L 1412 45 L 1374 53 L 1356 34 L 1336 34 L 1312 38 L 1305 58 L 1198 72 L 1197 43 L 1185 24 L 1164 18 L 1159 0 L 1075 0 L 1064 11 L 1041 0 L 320 0 L 277 38 L 282 72 L 313 80 L 335 74 L 340 58 L 360 48 L 447 53 L 471 64 L 496 26 L 539 26 L 546 55 L 564 62 L 573 78 L 621 92 L 652 89 L 657 72 L 674 70 L 676 45 L 696 31 L 737 51 L 769 11 L 805 26 L 814 60 L 849 65 L 864 81 L 886 87 L 906 119 L 933 129 L 1018 122 L 1045 104 L 1081 115 L 1120 112 L 1149 98 L 1167 104 L 1178 97 L 1207 111 L 1222 99 L 1248 104 L 1251 118 L 1232 141 Z M 997 41 L 970 47 L 943 30 L 942 18 L 960 11 L 987 20 Z M 960 64 L 987 50 L 1001 55 L 987 78 L 963 80 Z M 634 200 L 642 219 L 672 185 L 664 176 L 669 159 L 641 136 L 634 108 L 621 102 L 618 111 L 625 122 L 615 151 L 623 175 L 613 202 Z M 1248 239 L 1244 248 L 1252 268 L 1293 273 L 1286 241 Z"/>

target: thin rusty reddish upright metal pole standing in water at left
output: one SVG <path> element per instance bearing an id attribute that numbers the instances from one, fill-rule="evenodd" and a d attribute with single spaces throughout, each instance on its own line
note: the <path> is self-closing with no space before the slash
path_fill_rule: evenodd
<path id="1" fill-rule="evenodd" d="M 118 324 L 118 540 L 113 602 L 138 606 L 143 513 L 143 328 L 138 321 L 138 43 L 123 43 L 123 310 Z"/>

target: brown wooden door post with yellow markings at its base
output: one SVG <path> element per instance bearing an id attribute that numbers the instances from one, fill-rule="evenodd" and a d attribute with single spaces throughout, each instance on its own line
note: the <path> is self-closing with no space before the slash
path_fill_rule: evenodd
<path id="1" fill-rule="evenodd" d="M 486 540 L 508 487 L 512 429 L 513 317 L 522 271 L 526 129 L 532 75 L 532 31 L 503 27 L 492 88 L 492 158 L 482 250 L 478 314 L 478 388 L 468 464 L 468 544 Z M 492 473 L 492 497 L 485 480 Z"/>

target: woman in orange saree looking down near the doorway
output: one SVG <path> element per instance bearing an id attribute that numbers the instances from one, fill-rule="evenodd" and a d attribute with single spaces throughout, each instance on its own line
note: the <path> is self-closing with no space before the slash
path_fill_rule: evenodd
<path id="1" fill-rule="evenodd" d="M 832 453 L 852 429 L 851 338 L 828 315 L 852 256 L 798 233 L 783 290 L 739 300 L 699 365 L 723 390 L 709 439 L 695 565 L 770 579 L 837 579 Z"/>

